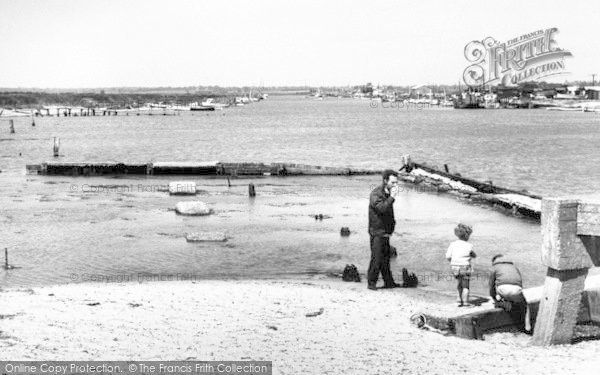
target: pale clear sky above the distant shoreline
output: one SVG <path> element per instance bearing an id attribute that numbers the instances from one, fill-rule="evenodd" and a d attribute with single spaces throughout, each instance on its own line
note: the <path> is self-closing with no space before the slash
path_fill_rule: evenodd
<path id="1" fill-rule="evenodd" d="M 0 87 L 456 84 L 467 43 L 550 27 L 573 54 L 554 81 L 591 80 L 599 17 L 597 0 L 0 0 Z"/>

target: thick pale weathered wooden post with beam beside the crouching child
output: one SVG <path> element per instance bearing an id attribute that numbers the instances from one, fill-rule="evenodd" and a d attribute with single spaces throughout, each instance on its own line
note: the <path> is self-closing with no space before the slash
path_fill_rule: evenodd
<path id="1" fill-rule="evenodd" d="M 571 342 L 588 269 L 600 260 L 600 205 L 542 200 L 542 263 L 548 267 L 536 345 Z"/>

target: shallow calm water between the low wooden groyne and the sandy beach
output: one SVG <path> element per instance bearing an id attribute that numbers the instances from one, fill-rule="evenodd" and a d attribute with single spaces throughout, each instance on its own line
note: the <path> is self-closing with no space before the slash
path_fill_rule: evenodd
<path id="1" fill-rule="evenodd" d="M 339 273 L 348 263 L 366 271 L 368 194 L 377 176 L 255 178 L 254 199 L 247 196 L 250 180 L 234 180 L 231 188 L 222 179 L 195 180 L 204 190 L 197 198 L 214 215 L 177 215 L 175 204 L 193 198 L 157 191 L 168 179 L 28 177 L 26 189 L 2 201 L 9 207 L 3 243 L 11 263 L 22 267 L 2 273 L 3 284 L 296 277 Z M 475 227 L 472 242 L 481 259 L 502 251 L 539 268 L 537 223 L 411 186 L 395 206 L 398 278 L 408 267 L 426 284 L 452 284 L 444 254 L 458 221 Z M 326 218 L 315 220 L 320 213 Z M 343 226 L 350 237 L 340 236 Z M 228 241 L 184 238 L 213 230 L 225 231 Z"/>

